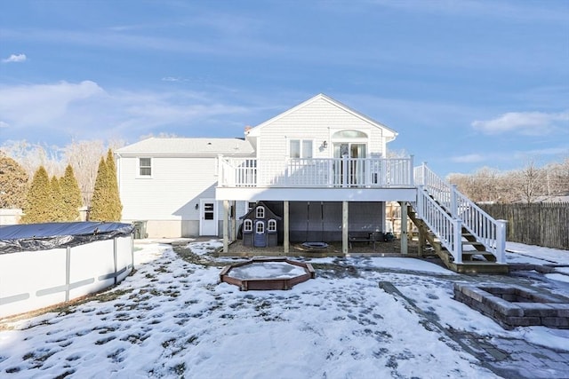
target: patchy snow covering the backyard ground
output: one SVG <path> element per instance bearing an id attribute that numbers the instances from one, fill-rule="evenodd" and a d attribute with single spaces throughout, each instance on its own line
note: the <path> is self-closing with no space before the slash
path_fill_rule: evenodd
<path id="1" fill-rule="evenodd" d="M 137 245 L 137 271 L 116 288 L 58 312 L 0 321 L 0 377 L 497 377 L 425 314 L 444 328 L 569 351 L 569 330 L 507 331 L 453 300 L 454 282 L 491 276 L 413 258 L 315 258 L 314 280 L 288 291 L 242 292 L 218 282 L 228 263 L 211 255 L 219 244 L 190 242 L 195 263 L 168 244 Z M 569 265 L 567 251 L 508 249 L 510 262 Z M 565 291 L 567 275 L 549 275 Z"/>

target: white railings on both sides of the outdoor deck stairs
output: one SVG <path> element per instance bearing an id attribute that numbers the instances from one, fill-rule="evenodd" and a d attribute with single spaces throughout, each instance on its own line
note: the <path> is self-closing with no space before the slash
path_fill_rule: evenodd
<path id="1" fill-rule="evenodd" d="M 427 217 L 431 217 L 426 213 L 421 214 L 421 212 L 428 210 L 425 208 L 425 205 L 421 205 L 421 201 L 435 203 L 438 209 L 434 209 L 445 212 L 448 217 L 453 219 L 453 227 L 457 228 L 459 232 L 462 227 L 466 228 L 469 233 L 476 237 L 478 242 L 485 246 L 486 251 L 491 252 L 496 257 L 497 263 L 506 263 L 506 221 L 495 220 L 478 207 L 476 203 L 470 201 L 468 197 L 459 192 L 456 186 L 438 178 L 437 174 L 429 170 L 426 164 L 414 169 L 414 177 L 416 184 L 420 185 L 417 201 L 418 209 L 416 209 L 419 217 L 423 218 L 425 222 L 427 222 Z M 436 226 L 429 225 L 433 233 L 437 234 L 437 237 L 441 239 L 441 242 L 448 238 L 448 233 L 457 233 L 457 231 L 449 232 L 445 228 L 437 230 Z M 462 248 L 461 246 L 459 247 L 461 243 L 456 243 L 455 245 L 452 245 L 451 249 L 460 250 L 453 250 L 453 257 L 454 254 L 461 256 Z M 448 246 L 445 246 L 445 248 L 449 249 Z M 457 259 L 457 257 L 454 258 Z"/>

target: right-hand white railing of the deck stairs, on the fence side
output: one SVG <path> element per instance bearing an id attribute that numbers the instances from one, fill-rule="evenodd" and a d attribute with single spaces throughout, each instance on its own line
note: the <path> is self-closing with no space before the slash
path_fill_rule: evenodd
<path id="1" fill-rule="evenodd" d="M 456 186 L 439 178 L 425 163 L 414 169 L 414 175 L 415 182 L 422 185 L 424 192 L 429 193 L 451 218 L 460 219 L 461 226 L 482 243 L 486 251 L 496 257 L 497 263 L 506 263 L 505 220 L 495 220 L 459 192 Z"/>

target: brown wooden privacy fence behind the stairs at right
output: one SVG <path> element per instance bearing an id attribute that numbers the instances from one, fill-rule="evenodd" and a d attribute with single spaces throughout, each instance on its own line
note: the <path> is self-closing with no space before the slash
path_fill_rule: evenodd
<path id="1" fill-rule="evenodd" d="M 478 206 L 496 219 L 508 220 L 508 241 L 569 250 L 569 202 Z"/>

